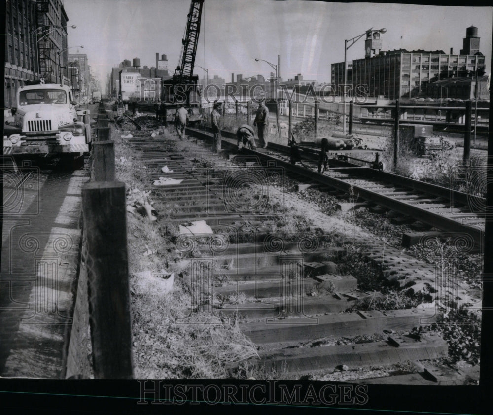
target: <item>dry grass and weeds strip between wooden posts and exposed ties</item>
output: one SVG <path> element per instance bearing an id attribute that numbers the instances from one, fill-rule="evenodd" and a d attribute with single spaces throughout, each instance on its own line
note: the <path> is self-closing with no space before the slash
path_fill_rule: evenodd
<path id="1" fill-rule="evenodd" d="M 117 180 L 127 189 L 142 190 L 152 172 L 121 138 L 122 132 L 112 129 Z M 187 269 L 186 258 L 176 262 L 172 253 L 173 226 L 129 213 L 127 234 L 137 378 L 222 378 L 227 365 L 257 356 L 238 320 L 193 311 L 190 287 L 180 278 L 180 271 Z M 175 273 L 171 291 L 166 280 L 152 275 L 161 270 Z"/>

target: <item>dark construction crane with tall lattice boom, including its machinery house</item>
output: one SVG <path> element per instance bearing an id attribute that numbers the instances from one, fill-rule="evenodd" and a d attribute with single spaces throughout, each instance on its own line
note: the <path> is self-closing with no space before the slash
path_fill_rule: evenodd
<path id="1" fill-rule="evenodd" d="M 199 77 L 193 75 L 193 69 L 199 42 L 203 5 L 204 0 L 191 1 L 185 36 L 181 40 L 180 64 L 176 67 L 173 78 L 163 82 L 164 88 L 170 91 L 169 100 L 173 104 L 185 104 L 189 108 L 190 122 L 192 123 L 202 119 L 201 96 L 197 87 Z"/>

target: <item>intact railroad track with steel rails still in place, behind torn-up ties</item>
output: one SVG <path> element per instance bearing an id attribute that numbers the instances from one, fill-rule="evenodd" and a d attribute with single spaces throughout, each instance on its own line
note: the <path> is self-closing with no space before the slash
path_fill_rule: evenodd
<path id="1" fill-rule="evenodd" d="M 211 138 L 209 130 L 188 131 L 197 137 Z M 233 134 L 222 132 L 222 136 L 223 146 L 236 148 Z M 331 169 L 325 174 L 317 173 L 317 162 L 314 159 L 317 158 L 318 151 L 315 149 L 308 149 L 303 153 L 309 157 L 304 161 L 304 166 L 292 165 L 289 162 L 289 147 L 280 144 L 269 144 L 267 151 L 242 151 L 273 161 L 295 176 L 308 180 L 309 184 L 327 186 L 344 193 L 352 192 L 357 198 L 392 210 L 401 215 L 401 218 L 395 220 L 397 223 L 419 221 L 447 233 L 467 235 L 468 243 L 482 245 L 486 207 L 484 198 L 341 161 L 340 158 L 354 153 L 351 150 L 339 152 L 339 158 L 336 156 L 329 159 Z M 460 173 L 459 171 L 458 174 Z"/>

